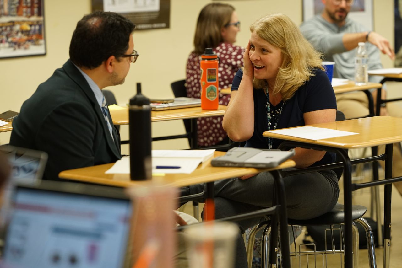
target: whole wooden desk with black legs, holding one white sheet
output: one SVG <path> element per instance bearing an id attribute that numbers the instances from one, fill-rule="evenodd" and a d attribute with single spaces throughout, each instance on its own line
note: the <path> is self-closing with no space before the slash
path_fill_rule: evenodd
<path id="1" fill-rule="evenodd" d="M 392 178 L 392 143 L 402 141 L 402 118 L 396 117 L 366 117 L 331 123 L 310 125 L 359 134 L 335 137 L 321 140 L 301 139 L 265 131 L 265 137 L 285 140 L 280 147 L 304 147 L 309 149 L 333 151 L 343 159 L 344 165 L 344 205 L 345 205 L 345 267 L 351 268 L 352 258 L 352 191 L 359 188 L 385 185 L 384 193 L 384 267 L 390 264 L 390 235 L 391 235 L 391 184 L 402 180 L 402 177 Z M 385 179 L 361 184 L 352 184 L 351 160 L 344 149 L 373 147 L 386 144 Z"/>

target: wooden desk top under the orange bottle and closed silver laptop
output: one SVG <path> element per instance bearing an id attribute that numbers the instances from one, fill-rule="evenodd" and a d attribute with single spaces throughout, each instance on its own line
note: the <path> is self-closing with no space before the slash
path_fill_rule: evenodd
<path id="1" fill-rule="evenodd" d="M 173 110 L 151 111 L 151 122 L 168 121 L 176 119 L 191 119 L 198 117 L 222 116 L 226 112 L 227 106 L 219 105 L 217 110 L 202 110 L 201 107 L 190 107 Z M 128 125 L 128 108 L 121 110 L 111 110 L 113 124 Z"/>

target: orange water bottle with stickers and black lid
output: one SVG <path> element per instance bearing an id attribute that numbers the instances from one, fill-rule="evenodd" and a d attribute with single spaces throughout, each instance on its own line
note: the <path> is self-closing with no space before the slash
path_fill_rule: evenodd
<path id="1" fill-rule="evenodd" d="M 212 48 L 207 47 L 201 55 L 201 109 L 216 110 L 219 106 L 218 90 L 219 58 Z"/>

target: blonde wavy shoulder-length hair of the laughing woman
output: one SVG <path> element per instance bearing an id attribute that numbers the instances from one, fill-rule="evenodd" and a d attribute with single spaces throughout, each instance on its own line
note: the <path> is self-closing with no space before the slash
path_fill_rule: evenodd
<path id="1" fill-rule="evenodd" d="M 250 31 L 282 52 L 283 62 L 275 79 L 273 94 L 281 93 L 284 101 L 289 100 L 314 75 L 314 69 L 324 70 L 322 54 L 303 37 L 288 16 L 265 15 L 250 26 Z M 266 80 L 254 78 L 253 85 L 254 88 L 268 88 Z"/>

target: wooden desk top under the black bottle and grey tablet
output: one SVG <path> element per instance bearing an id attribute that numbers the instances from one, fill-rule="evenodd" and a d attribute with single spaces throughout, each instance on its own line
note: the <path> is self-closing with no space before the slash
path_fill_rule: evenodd
<path id="1" fill-rule="evenodd" d="M 224 152 L 215 151 L 214 157 L 224 154 Z M 154 182 L 161 182 L 162 184 L 168 184 L 170 186 L 182 187 L 191 184 L 212 182 L 226 178 L 240 177 L 246 174 L 291 168 L 295 166 L 295 162 L 293 160 L 287 160 L 281 165 L 269 169 L 213 167 L 211 166 L 211 159 L 200 164 L 198 168 L 191 174 L 165 174 L 165 176 L 154 176 L 152 180 Z M 131 181 L 130 174 L 105 174 L 105 171 L 112 166 L 113 163 L 66 170 L 60 172 L 59 177 L 118 187 L 142 186 L 148 184 L 148 181 Z"/>

